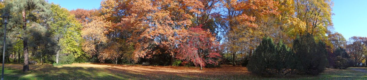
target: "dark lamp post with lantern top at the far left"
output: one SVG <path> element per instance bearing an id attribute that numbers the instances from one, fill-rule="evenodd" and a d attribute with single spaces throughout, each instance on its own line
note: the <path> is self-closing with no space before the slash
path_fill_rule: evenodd
<path id="1" fill-rule="evenodd" d="M 1 80 L 4 80 L 4 63 L 5 63 L 5 40 L 6 40 L 6 24 L 8 24 L 8 19 L 11 19 L 12 16 L 9 15 L 8 12 L 5 12 L 3 15 L 0 16 L 4 19 L 4 46 L 3 46 L 3 69 L 1 70 Z"/>

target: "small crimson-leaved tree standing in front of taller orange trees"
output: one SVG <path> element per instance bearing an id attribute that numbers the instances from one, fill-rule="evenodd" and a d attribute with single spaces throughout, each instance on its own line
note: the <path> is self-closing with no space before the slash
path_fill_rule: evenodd
<path id="1" fill-rule="evenodd" d="M 177 50 L 177 59 L 193 62 L 200 69 L 206 64 L 218 65 L 215 60 L 221 55 L 218 53 L 218 41 L 209 31 L 204 31 L 202 25 L 188 29 L 189 36 L 186 42 L 181 43 Z"/>

